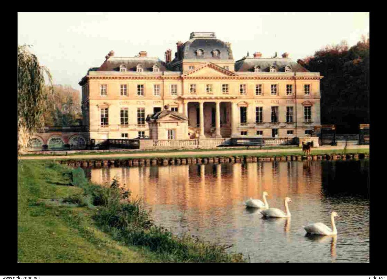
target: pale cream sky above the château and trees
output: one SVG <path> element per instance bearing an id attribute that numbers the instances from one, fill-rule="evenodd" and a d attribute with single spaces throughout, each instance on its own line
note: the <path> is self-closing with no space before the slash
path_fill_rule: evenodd
<path id="1" fill-rule="evenodd" d="M 133 57 L 140 51 L 165 60 L 191 32 L 215 32 L 231 43 L 235 60 L 289 53 L 294 61 L 342 40 L 353 46 L 370 31 L 369 13 L 18 13 L 17 44 L 32 45 L 56 84 L 78 85 L 106 54 Z"/>

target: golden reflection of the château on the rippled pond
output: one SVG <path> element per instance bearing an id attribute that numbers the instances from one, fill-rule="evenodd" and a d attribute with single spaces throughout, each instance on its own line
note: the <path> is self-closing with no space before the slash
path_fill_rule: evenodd
<path id="1" fill-rule="evenodd" d="M 206 210 L 237 204 L 248 197 L 293 193 L 319 195 L 319 162 L 257 162 L 236 164 L 139 166 L 91 170 L 91 180 L 104 184 L 114 176 L 148 204 L 173 204 Z"/>

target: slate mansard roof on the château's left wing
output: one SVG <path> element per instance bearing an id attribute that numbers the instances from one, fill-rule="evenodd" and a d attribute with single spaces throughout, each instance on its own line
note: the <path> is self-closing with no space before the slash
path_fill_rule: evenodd
<path id="1" fill-rule="evenodd" d="M 142 65 L 144 71 L 153 71 L 153 66 L 156 65 L 160 71 L 166 71 L 164 61 L 159 58 L 150 57 L 116 57 L 110 56 L 97 71 L 120 71 L 120 66 L 123 65 L 127 71 L 136 71 L 137 65 Z"/>

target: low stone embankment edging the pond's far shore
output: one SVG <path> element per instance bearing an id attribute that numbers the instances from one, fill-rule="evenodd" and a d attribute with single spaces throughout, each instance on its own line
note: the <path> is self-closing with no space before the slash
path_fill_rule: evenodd
<path id="1" fill-rule="evenodd" d="M 239 163 L 257 161 L 302 161 L 302 160 L 359 160 L 368 158 L 369 154 L 319 154 L 319 155 L 286 155 L 286 156 L 215 156 L 204 158 L 146 158 L 146 159 L 110 159 L 110 160 L 62 160 L 61 164 L 69 166 L 166 166 L 207 163 Z"/>

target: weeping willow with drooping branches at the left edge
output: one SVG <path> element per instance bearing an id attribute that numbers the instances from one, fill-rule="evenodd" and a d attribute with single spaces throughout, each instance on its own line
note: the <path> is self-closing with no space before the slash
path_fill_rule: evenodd
<path id="1" fill-rule="evenodd" d="M 50 71 L 39 65 L 38 58 L 29 51 L 29 46 L 17 46 L 17 150 L 26 150 L 34 131 L 44 126 L 47 92 L 45 74 L 52 90 Z"/>

